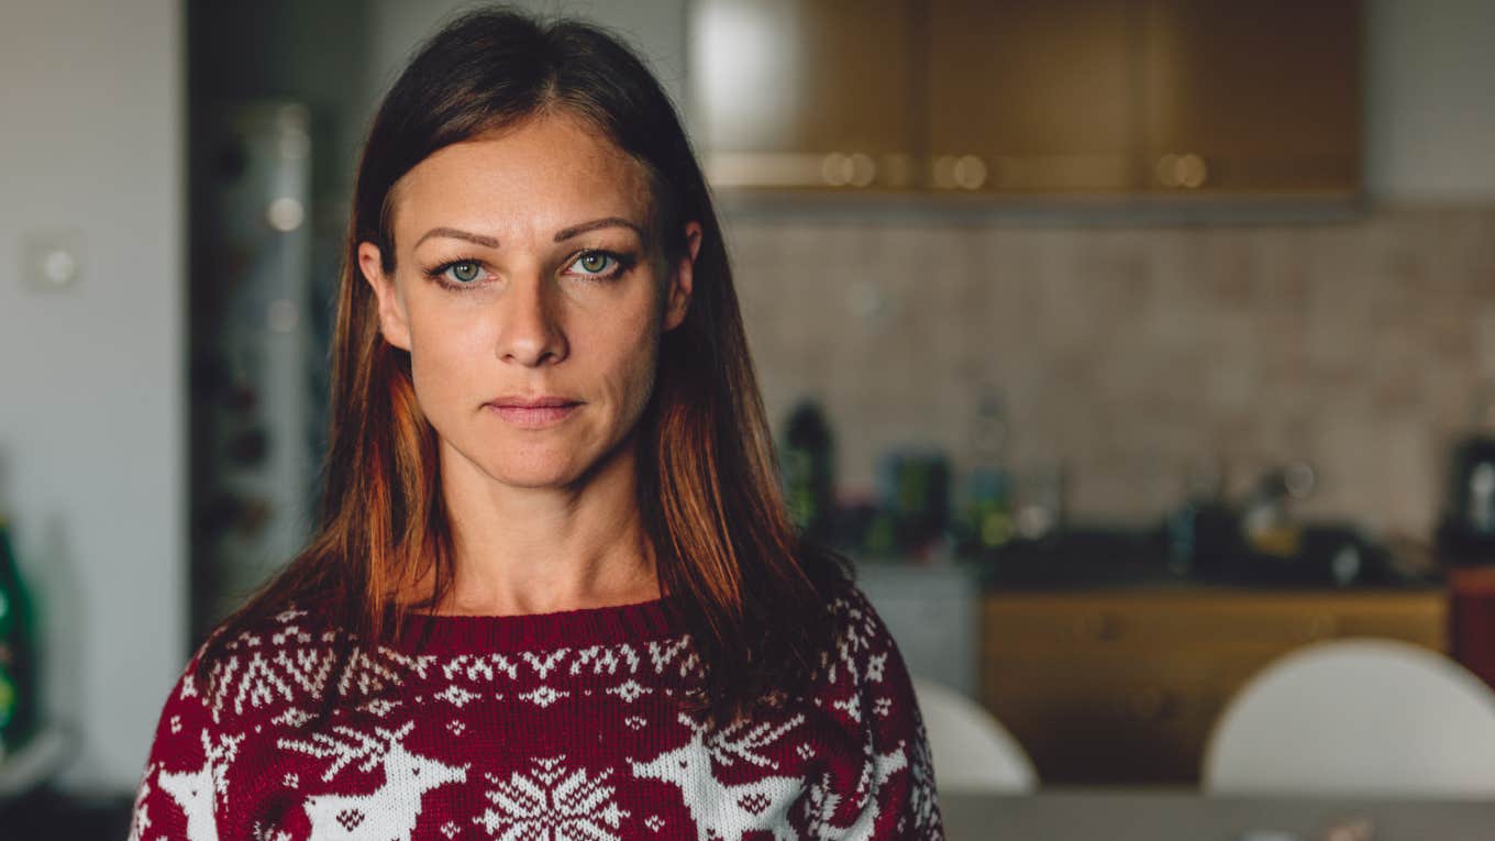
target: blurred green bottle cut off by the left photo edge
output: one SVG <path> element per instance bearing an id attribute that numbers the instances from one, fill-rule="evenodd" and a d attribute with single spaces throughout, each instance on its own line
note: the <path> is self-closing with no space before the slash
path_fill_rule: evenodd
<path id="1" fill-rule="evenodd" d="M 18 750 L 36 726 L 31 611 L 7 525 L 0 515 L 0 760 Z"/>

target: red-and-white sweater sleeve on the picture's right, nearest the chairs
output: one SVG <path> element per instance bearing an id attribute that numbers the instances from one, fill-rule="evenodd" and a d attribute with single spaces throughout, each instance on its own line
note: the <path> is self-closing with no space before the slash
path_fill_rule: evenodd
<path id="1" fill-rule="evenodd" d="M 861 742 L 855 789 L 836 810 L 852 823 L 845 835 L 834 835 L 940 841 L 945 834 L 924 718 L 898 646 L 854 587 L 834 608 L 840 630 L 830 705 L 857 729 Z"/>

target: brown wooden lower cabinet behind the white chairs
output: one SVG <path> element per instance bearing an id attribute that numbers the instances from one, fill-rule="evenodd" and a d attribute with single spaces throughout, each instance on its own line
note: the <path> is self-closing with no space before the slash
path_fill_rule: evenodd
<path id="1" fill-rule="evenodd" d="M 1350 636 L 1446 652 L 1447 617 L 1441 590 L 988 594 L 981 697 L 1045 786 L 1195 784 L 1215 718 L 1277 657 Z"/>

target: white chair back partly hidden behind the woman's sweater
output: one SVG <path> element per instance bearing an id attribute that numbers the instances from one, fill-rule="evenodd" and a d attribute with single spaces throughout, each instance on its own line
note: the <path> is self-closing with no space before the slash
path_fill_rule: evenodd
<path id="1" fill-rule="evenodd" d="M 940 792 L 1024 793 L 1038 786 L 1027 753 L 969 697 L 913 678 Z"/>

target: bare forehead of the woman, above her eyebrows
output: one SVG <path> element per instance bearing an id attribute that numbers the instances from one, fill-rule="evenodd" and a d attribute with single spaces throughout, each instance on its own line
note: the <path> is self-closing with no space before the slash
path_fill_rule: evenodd
<path id="1" fill-rule="evenodd" d="M 547 232 L 605 215 L 646 226 L 644 166 L 591 123 L 541 115 L 437 150 L 392 192 L 393 227 Z M 405 239 L 408 241 L 408 239 Z"/>

